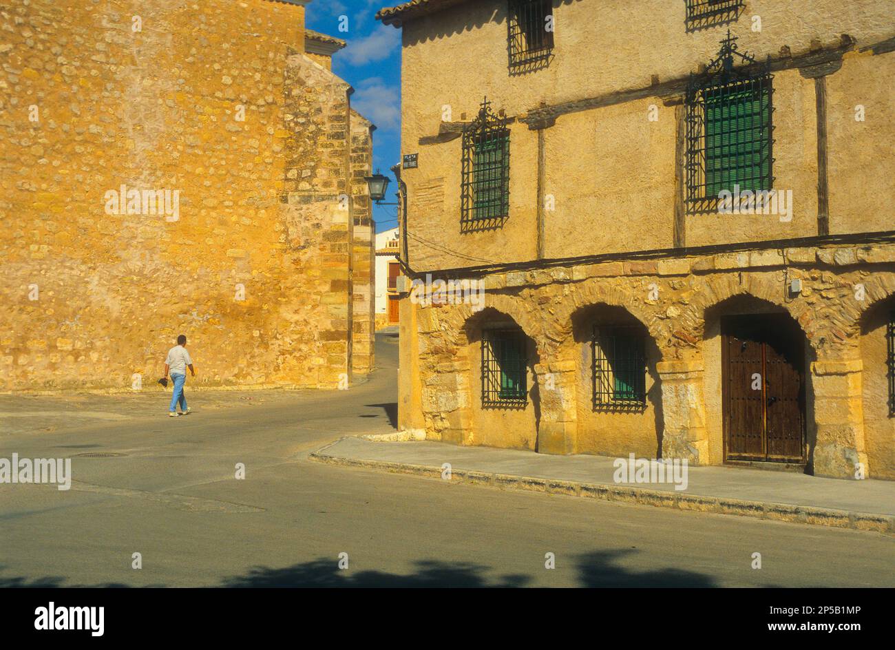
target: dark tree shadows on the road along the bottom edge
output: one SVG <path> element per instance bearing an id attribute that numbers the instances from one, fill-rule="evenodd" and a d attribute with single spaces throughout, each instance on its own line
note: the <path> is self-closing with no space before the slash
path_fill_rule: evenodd
<path id="1" fill-rule="evenodd" d="M 578 586 L 584 587 L 713 587 L 717 583 L 708 576 L 684 569 L 652 569 L 632 571 L 618 566 L 622 560 L 635 553 L 632 549 L 589 552 L 573 557 Z M 539 566 L 532 572 L 543 569 Z M 337 560 L 319 558 L 290 567 L 272 569 L 253 567 L 243 576 L 226 577 L 219 586 L 224 587 L 521 587 L 529 586 L 531 576 L 511 574 L 490 577 L 489 567 L 468 562 L 421 560 L 415 563 L 413 573 L 402 575 L 378 570 L 338 569 Z M 562 557 L 558 570 L 563 569 Z M 122 587 L 120 583 L 98 585 L 70 585 L 62 577 L 41 577 L 29 580 L 25 577 L 0 578 L 0 588 L 7 587 Z M 162 585 L 154 585 L 162 586 Z"/>

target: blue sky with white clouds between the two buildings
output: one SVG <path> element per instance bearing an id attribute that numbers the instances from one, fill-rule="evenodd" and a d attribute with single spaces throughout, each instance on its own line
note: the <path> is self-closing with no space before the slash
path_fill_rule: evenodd
<path id="1" fill-rule="evenodd" d="M 400 0 L 314 0 L 305 13 L 308 29 L 348 43 L 333 56 L 333 72 L 354 87 L 351 106 L 376 124 L 373 171 L 379 167 L 391 179 L 386 201 L 396 201 L 395 177 L 388 167 L 401 155 L 401 30 L 383 25 L 375 15 L 395 4 Z M 374 206 L 373 218 L 377 232 L 396 227 L 396 208 Z"/>

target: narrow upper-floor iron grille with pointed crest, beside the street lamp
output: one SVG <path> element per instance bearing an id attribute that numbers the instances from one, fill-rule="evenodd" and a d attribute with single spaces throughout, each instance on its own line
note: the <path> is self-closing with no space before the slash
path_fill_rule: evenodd
<path id="1" fill-rule="evenodd" d="M 499 227 L 509 215 L 509 129 L 485 98 L 463 132 L 462 232 Z"/>

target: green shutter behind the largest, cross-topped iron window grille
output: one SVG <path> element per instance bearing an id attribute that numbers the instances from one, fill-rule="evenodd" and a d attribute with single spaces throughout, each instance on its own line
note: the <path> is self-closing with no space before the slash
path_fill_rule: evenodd
<path id="1" fill-rule="evenodd" d="M 767 83 L 747 82 L 706 90 L 706 196 L 722 190 L 771 189 L 771 93 Z"/>

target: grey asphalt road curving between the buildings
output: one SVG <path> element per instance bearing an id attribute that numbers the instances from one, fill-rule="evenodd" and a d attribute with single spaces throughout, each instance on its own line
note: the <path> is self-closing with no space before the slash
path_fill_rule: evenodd
<path id="1" fill-rule="evenodd" d="M 176 419 L 162 393 L 3 398 L 0 458 L 72 457 L 75 483 L 0 484 L 0 586 L 895 585 L 875 533 L 308 460 L 392 431 L 396 352 L 379 336 L 379 370 L 346 391 L 188 392 Z M 76 456 L 96 453 L 120 455 Z"/>

